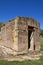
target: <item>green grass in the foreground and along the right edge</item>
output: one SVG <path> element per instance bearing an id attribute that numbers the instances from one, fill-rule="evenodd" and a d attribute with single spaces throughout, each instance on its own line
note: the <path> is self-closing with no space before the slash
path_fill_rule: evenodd
<path id="1" fill-rule="evenodd" d="M 40 39 L 41 42 L 41 50 L 43 51 L 43 38 Z M 0 65 L 43 65 L 43 56 L 40 57 L 40 60 L 36 61 L 3 61 L 0 60 Z"/>

